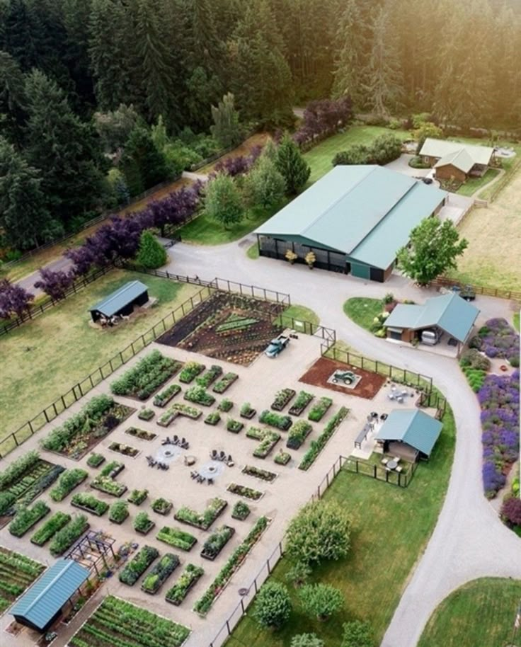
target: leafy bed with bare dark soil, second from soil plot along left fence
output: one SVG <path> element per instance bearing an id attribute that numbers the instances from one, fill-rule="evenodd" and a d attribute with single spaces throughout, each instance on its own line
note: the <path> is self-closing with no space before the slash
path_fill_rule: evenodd
<path id="1" fill-rule="evenodd" d="M 65 420 L 44 438 L 42 447 L 72 459 L 80 459 L 135 409 L 107 395 L 94 396 L 79 413 Z"/>

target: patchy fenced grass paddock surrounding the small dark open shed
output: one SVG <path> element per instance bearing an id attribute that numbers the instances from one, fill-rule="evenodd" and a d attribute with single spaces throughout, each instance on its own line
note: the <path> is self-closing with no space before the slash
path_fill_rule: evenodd
<path id="1" fill-rule="evenodd" d="M 88 308 L 135 279 L 149 287 L 149 295 L 158 299 L 156 306 L 114 328 L 89 326 Z M 113 270 L 37 319 L 0 337 L 0 437 L 36 416 L 198 290 L 195 285 Z"/>

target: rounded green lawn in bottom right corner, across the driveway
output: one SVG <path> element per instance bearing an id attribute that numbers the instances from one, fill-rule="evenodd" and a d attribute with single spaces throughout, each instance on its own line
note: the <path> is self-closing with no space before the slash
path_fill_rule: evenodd
<path id="1" fill-rule="evenodd" d="M 473 580 L 445 598 L 425 627 L 418 647 L 503 647 L 512 641 L 521 581 Z"/>

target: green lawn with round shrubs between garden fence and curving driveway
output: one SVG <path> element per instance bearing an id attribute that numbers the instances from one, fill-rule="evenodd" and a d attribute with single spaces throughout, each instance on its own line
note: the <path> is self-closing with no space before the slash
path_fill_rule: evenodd
<path id="1" fill-rule="evenodd" d="M 326 499 L 338 500 L 350 511 L 352 547 L 347 558 L 317 568 L 311 582 L 339 588 L 345 597 L 343 611 L 327 622 L 311 620 L 300 612 L 290 586 L 294 608 L 282 629 L 262 629 L 250 607 L 227 647 L 290 647 L 292 636 L 306 632 L 315 632 L 327 647 L 333 647 L 340 644 L 343 622 L 353 619 L 368 620 L 377 644 L 381 641 L 445 498 L 454 452 L 452 413 L 445 414 L 444 423 L 433 457 L 418 467 L 408 488 L 341 471 L 327 491 Z M 273 579 L 285 583 L 290 566 L 282 558 Z"/>

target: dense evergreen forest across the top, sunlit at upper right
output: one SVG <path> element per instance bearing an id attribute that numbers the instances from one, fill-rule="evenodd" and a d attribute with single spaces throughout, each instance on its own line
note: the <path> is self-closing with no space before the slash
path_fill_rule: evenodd
<path id="1" fill-rule="evenodd" d="M 291 128 L 293 105 L 327 96 L 383 116 L 518 129 L 515 7 L 0 0 L 0 246 L 72 231 L 222 149 L 219 102 L 239 139 L 253 125 Z"/>

